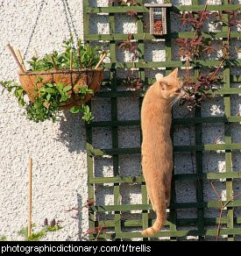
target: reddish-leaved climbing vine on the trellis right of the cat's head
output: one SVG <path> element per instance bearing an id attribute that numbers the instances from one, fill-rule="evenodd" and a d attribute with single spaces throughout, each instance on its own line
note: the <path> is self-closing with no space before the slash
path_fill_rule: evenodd
<path id="1" fill-rule="evenodd" d="M 205 5 L 203 11 L 183 11 L 181 14 L 177 14 L 181 18 L 182 25 L 191 25 L 195 31 L 192 39 L 176 39 L 179 47 L 179 56 L 185 60 L 186 66 L 186 73 L 183 76 L 183 87 L 186 91 L 186 96 L 181 99 L 181 104 L 188 103 L 189 110 L 200 106 L 205 98 L 211 96 L 211 91 L 220 88 L 223 81 L 223 76 L 219 75 L 219 71 L 230 57 L 230 27 L 240 24 L 237 18 L 238 11 L 223 11 L 223 13 L 229 14 L 228 20 L 223 19 L 221 12 L 207 11 L 207 5 Z M 228 27 L 227 41 L 222 46 L 222 58 L 218 67 L 209 68 L 209 73 L 199 74 L 196 79 L 193 79 L 190 75 L 192 62 L 199 59 L 201 55 L 207 58 L 211 53 L 217 53 L 215 46 L 213 46 L 214 39 L 202 36 L 203 25 L 210 18 L 215 18 L 214 24 L 218 22 L 226 23 Z"/>

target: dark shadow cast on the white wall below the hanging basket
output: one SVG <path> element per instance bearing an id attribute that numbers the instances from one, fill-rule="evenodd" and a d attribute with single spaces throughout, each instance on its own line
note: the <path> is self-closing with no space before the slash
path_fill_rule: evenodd
<path id="1" fill-rule="evenodd" d="M 57 140 L 67 146 L 70 153 L 85 152 L 85 125 L 81 114 L 64 111 L 64 115 L 60 118 Z"/>

